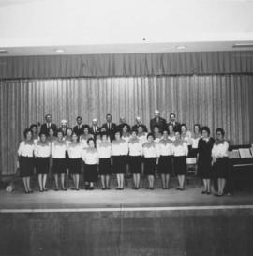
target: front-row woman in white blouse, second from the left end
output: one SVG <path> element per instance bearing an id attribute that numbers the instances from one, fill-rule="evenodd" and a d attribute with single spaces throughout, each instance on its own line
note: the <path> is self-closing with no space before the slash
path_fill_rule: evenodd
<path id="1" fill-rule="evenodd" d="M 39 138 L 35 148 L 35 157 L 39 192 L 43 192 L 48 190 L 46 183 L 50 170 L 51 144 L 47 140 L 46 133 L 40 132 Z"/>

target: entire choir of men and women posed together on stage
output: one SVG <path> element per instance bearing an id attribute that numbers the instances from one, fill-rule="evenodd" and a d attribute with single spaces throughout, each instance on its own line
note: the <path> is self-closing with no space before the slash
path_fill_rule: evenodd
<path id="1" fill-rule="evenodd" d="M 55 191 L 67 190 L 66 173 L 71 176 L 75 190 L 79 190 L 83 173 L 85 189 L 94 189 L 98 176 L 102 189 L 110 189 L 112 173 L 117 177 L 118 190 L 124 189 L 125 174 L 130 172 L 133 189 L 140 188 L 141 173 L 148 179 L 147 189 L 153 190 L 154 177 L 161 177 L 162 188 L 170 188 L 170 176 L 178 178 L 178 190 L 185 189 L 186 158 L 197 158 L 198 175 L 203 180 L 202 194 L 211 194 L 211 180 L 217 180 L 216 196 L 222 196 L 228 177 L 229 143 L 225 132 L 216 128 L 216 140 L 210 136 L 210 129 L 199 124 L 193 131 L 186 124 L 176 122 L 175 113 L 170 114 L 169 123 L 155 111 L 150 121 L 150 132 L 136 117 L 136 124 L 130 127 L 126 118 L 120 124 L 112 123 L 107 114 L 106 123 L 97 126 L 82 124 L 82 117 L 76 118 L 74 128 L 67 127 L 62 120 L 60 128 L 52 123 L 52 115 L 45 116 L 46 122 L 40 127 L 31 125 L 24 130 L 24 140 L 18 149 L 19 164 L 25 193 L 31 193 L 30 177 L 36 169 L 39 191 L 47 191 L 49 173 L 54 175 Z M 60 186 L 59 186 L 60 179 Z"/>

